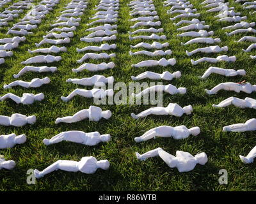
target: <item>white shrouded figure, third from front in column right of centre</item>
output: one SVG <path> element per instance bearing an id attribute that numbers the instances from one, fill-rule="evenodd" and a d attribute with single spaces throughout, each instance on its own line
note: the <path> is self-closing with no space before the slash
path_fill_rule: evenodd
<path id="1" fill-rule="evenodd" d="M 193 108 L 191 105 L 184 106 L 182 108 L 177 103 L 169 103 L 167 107 L 148 108 L 147 110 L 144 110 L 143 112 L 138 113 L 137 115 L 131 113 L 131 117 L 134 119 L 147 117 L 148 115 L 174 115 L 176 117 L 181 117 L 184 113 L 186 113 L 186 115 L 190 115 L 192 111 Z"/>

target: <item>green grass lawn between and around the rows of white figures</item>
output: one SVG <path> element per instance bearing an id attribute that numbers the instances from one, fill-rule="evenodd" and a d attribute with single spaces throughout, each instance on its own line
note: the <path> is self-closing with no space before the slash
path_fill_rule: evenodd
<path id="1" fill-rule="evenodd" d="M 16 2 L 16 1 L 13 1 Z M 38 0 L 36 3 L 40 2 Z M 20 47 L 13 51 L 13 57 L 6 58 L 6 63 L 1 64 L 0 77 L 1 85 L 9 84 L 14 81 L 12 75 L 18 73 L 24 66 L 20 62 L 25 61 L 34 55 L 27 52 L 28 48 L 35 49 L 35 43 L 42 40 L 45 31 L 51 29 L 50 23 L 60 15 L 64 10 L 65 4 L 69 1 L 63 0 L 51 11 L 42 24 L 33 32 L 34 34 L 27 37 L 27 41 L 20 44 Z M 202 1 L 200 1 L 202 2 Z M 243 10 L 240 4 L 234 4 L 229 1 L 230 6 L 235 6 L 236 12 L 242 12 L 247 15 L 247 22 L 253 22 L 255 17 L 249 14 L 248 10 Z M 115 52 L 116 58 L 113 59 L 116 66 L 114 69 L 90 73 L 83 71 L 81 73 L 72 73 L 72 68 L 77 68 L 79 64 L 76 60 L 83 56 L 84 53 L 78 54 L 76 47 L 82 48 L 93 43 L 85 43 L 79 39 L 88 34 L 84 32 L 88 28 L 86 25 L 95 11 L 92 9 L 98 4 L 98 1 L 90 1 L 88 8 L 81 17 L 81 25 L 74 32 L 75 36 L 71 43 L 67 45 L 67 53 L 61 53 L 63 60 L 58 63 L 52 63 L 51 66 L 58 66 L 56 73 L 26 73 L 20 80 L 30 81 L 32 78 L 50 77 L 51 83 L 36 89 L 23 89 L 22 87 L 13 87 L 13 89 L 3 90 L 1 94 L 12 92 L 19 96 L 22 93 L 44 92 L 45 100 L 42 103 L 33 105 L 16 105 L 13 101 L 8 100 L 0 103 L 0 115 L 12 115 L 12 113 L 22 113 L 25 115 L 36 115 L 37 122 L 33 126 L 24 126 L 22 128 L 1 126 L 1 134 L 22 134 L 28 136 L 28 141 L 22 145 L 16 145 L 12 149 L 0 151 L 6 159 L 13 159 L 17 166 L 14 170 L 1 170 L 0 173 L 0 190 L 1 191 L 253 191 L 256 186 L 256 171 L 254 164 L 243 164 L 239 159 L 239 154 L 246 155 L 255 146 L 256 135 L 254 132 L 246 133 L 223 133 L 223 126 L 238 122 L 245 122 L 255 115 L 252 109 L 241 109 L 235 106 L 229 106 L 223 109 L 212 108 L 213 103 L 219 103 L 225 98 L 236 96 L 245 98 L 249 96 L 243 92 L 220 91 L 214 96 L 205 94 L 204 89 L 211 89 L 221 82 L 240 82 L 246 80 L 251 84 L 256 84 L 255 80 L 255 61 L 250 59 L 252 53 L 244 53 L 241 49 L 248 47 L 249 42 L 234 43 L 245 34 L 237 34 L 228 37 L 225 31 L 221 30 L 222 26 L 230 25 L 228 23 L 218 23 L 212 18 L 218 13 L 206 13 L 205 8 L 198 1 L 191 0 L 194 7 L 202 14 L 200 20 L 205 20 L 206 24 L 211 26 L 210 31 L 214 31 L 214 38 L 221 38 L 220 46 L 227 45 L 229 51 L 227 55 L 236 55 L 237 61 L 234 63 L 218 63 L 214 66 L 221 68 L 246 69 L 245 77 L 222 77 L 220 75 L 211 75 L 207 80 L 200 80 L 198 76 L 212 66 L 209 63 L 201 63 L 197 66 L 191 65 L 190 59 L 199 59 L 202 56 L 216 57 L 218 54 L 196 54 L 188 57 L 185 50 L 193 50 L 205 45 L 180 46 L 181 41 L 187 41 L 191 38 L 177 38 L 180 32 L 176 31 L 175 25 L 169 19 L 173 17 L 167 15 L 168 8 L 163 6 L 162 1 L 154 0 L 157 13 L 164 28 L 164 33 L 170 43 L 173 51 L 172 57 L 177 59 L 175 66 L 154 67 L 154 68 L 131 68 L 131 64 L 149 59 L 146 56 L 129 56 L 130 45 L 135 45 L 139 41 L 129 41 L 128 31 L 132 31 L 129 22 L 128 0 L 120 1 L 120 10 L 118 18 L 118 35 L 117 48 L 108 53 Z M 9 4 L 3 6 L 0 11 L 7 8 Z M 20 15 L 22 17 L 22 15 Z M 18 22 L 16 19 L 15 22 Z M 177 22 L 178 20 L 175 20 Z M 14 22 L 11 22 L 12 24 Z M 0 29 L 0 38 L 6 38 L 6 28 Z M 250 35 L 250 34 L 248 34 Z M 152 43 L 152 41 L 147 41 Z M 113 41 L 113 43 L 115 43 Z M 96 45 L 97 43 L 95 43 Z M 100 43 L 98 43 L 100 45 Z M 47 47 L 45 45 L 45 47 Z M 222 53 L 221 53 L 222 54 Z M 221 55 L 220 54 L 220 55 Z M 223 53 L 224 54 L 224 53 Z M 161 59 L 161 57 L 155 57 Z M 110 60 L 86 62 L 100 63 L 110 62 Z M 40 65 L 40 64 L 39 64 Z M 163 106 L 168 103 L 178 103 L 180 106 L 192 105 L 193 114 L 182 116 L 180 118 L 173 116 L 166 117 L 147 117 L 145 119 L 134 120 L 131 113 L 138 113 L 150 107 L 150 105 L 100 105 L 104 110 L 111 110 L 113 116 L 109 120 L 100 120 L 100 122 L 89 122 L 83 120 L 74 124 L 54 124 L 57 117 L 73 115 L 77 111 L 88 108 L 93 105 L 93 99 L 75 97 L 68 103 L 61 101 L 61 96 L 67 96 L 79 85 L 65 82 L 67 78 L 92 77 L 95 74 L 105 75 L 106 77 L 115 77 L 115 82 L 131 81 L 131 75 L 138 75 L 143 71 L 181 71 L 182 77 L 175 79 L 171 84 L 177 87 L 186 87 L 187 94 L 183 96 L 171 96 L 164 94 Z M 150 80 L 145 80 L 150 82 Z M 161 81 L 168 84 L 166 81 Z M 90 87 L 88 87 L 90 89 Z M 251 98 L 256 98 L 256 94 L 250 94 Z M 157 138 L 143 143 L 135 143 L 133 138 L 140 136 L 150 128 L 157 126 L 179 126 L 186 125 L 188 128 L 199 126 L 201 133 L 198 136 L 190 136 L 185 140 L 173 140 L 173 138 Z M 102 134 L 109 133 L 112 140 L 109 143 L 100 143 L 95 147 L 88 147 L 71 142 L 61 142 L 56 145 L 46 147 L 42 140 L 69 130 L 80 130 L 84 132 L 99 131 Z M 191 154 L 205 152 L 209 157 L 205 166 L 197 165 L 195 170 L 188 173 L 179 173 L 177 169 L 168 168 L 168 166 L 158 157 L 148 159 L 147 161 L 138 161 L 135 152 L 146 152 L 157 147 L 162 147 L 170 154 L 175 154 L 176 150 L 188 151 Z M 43 170 L 49 164 L 58 159 L 68 159 L 79 161 L 83 156 L 95 156 L 97 159 L 108 159 L 111 166 L 108 171 L 97 170 L 93 175 L 86 175 L 81 172 L 70 173 L 65 171 L 56 171 L 40 180 L 36 180 L 35 185 L 26 184 L 26 171 L 29 168 Z M 228 184 L 221 186 L 218 183 L 218 171 L 225 168 L 228 171 Z"/>

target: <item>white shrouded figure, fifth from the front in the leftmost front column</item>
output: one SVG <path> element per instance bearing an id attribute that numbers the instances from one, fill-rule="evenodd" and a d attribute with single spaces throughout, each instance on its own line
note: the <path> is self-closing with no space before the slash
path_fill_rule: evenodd
<path id="1" fill-rule="evenodd" d="M 45 78 L 33 78 L 33 80 L 31 80 L 31 82 L 24 82 L 22 80 L 17 80 L 15 82 L 12 82 L 8 85 L 4 84 L 4 89 L 10 89 L 16 85 L 20 85 L 21 87 L 25 87 L 25 88 L 37 88 L 40 87 L 43 84 L 49 84 L 51 82 L 51 80 L 49 79 L 49 77 L 45 77 Z"/>

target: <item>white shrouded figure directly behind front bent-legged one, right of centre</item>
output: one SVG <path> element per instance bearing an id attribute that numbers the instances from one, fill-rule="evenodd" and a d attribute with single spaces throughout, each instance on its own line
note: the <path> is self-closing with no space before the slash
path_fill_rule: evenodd
<path id="1" fill-rule="evenodd" d="M 148 130 L 143 135 L 134 138 L 135 142 L 145 142 L 157 136 L 163 138 L 174 138 L 175 140 L 181 140 L 188 138 L 189 135 L 198 135 L 200 133 L 199 127 L 187 128 L 186 126 L 159 126 Z"/>

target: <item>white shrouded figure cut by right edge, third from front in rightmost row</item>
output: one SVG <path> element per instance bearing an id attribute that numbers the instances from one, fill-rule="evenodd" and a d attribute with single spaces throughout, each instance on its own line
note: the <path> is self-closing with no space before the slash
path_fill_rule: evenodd
<path id="1" fill-rule="evenodd" d="M 256 100 L 253 98 L 236 98 L 236 97 L 230 97 L 223 101 L 221 101 L 218 105 L 212 105 L 214 108 L 225 108 L 227 106 L 234 105 L 238 108 L 253 108 L 256 109 Z"/>

